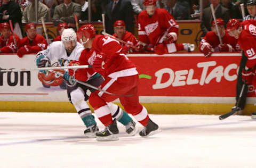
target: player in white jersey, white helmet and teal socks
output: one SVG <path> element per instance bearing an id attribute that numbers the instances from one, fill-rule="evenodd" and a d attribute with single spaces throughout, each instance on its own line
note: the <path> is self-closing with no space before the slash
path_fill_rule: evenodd
<path id="1" fill-rule="evenodd" d="M 60 66 L 68 66 L 71 60 L 79 60 L 83 49 L 83 45 L 77 42 L 75 31 L 73 29 L 65 29 L 62 32 L 61 41 L 54 41 L 47 47 L 47 49 L 39 52 L 36 55 L 35 63 L 38 68 L 51 66 L 51 63 L 56 61 L 59 62 Z M 43 71 L 42 73 L 47 72 Z M 99 73 L 94 73 L 86 82 L 95 87 L 99 87 L 103 80 L 104 78 Z M 70 76 L 68 71 L 65 71 L 63 74 L 63 81 L 67 83 L 67 94 L 70 103 L 75 106 L 76 111 L 87 127 L 84 131 L 85 136 L 94 138 L 95 132 L 99 129 L 90 107 L 86 103 L 86 100 L 89 98 L 86 91 L 90 90 L 91 92 L 94 92 L 95 90 L 81 85 L 80 83 L 76 83 L 74 77 Z M 126 132 L 131 136 L 135 135 L 137 129 L 135 127 L 135 122 L 131 117 L 117 105 L 113 103 L 108 105 L 111 109 L 112 116 L 125 125 Z"/>

